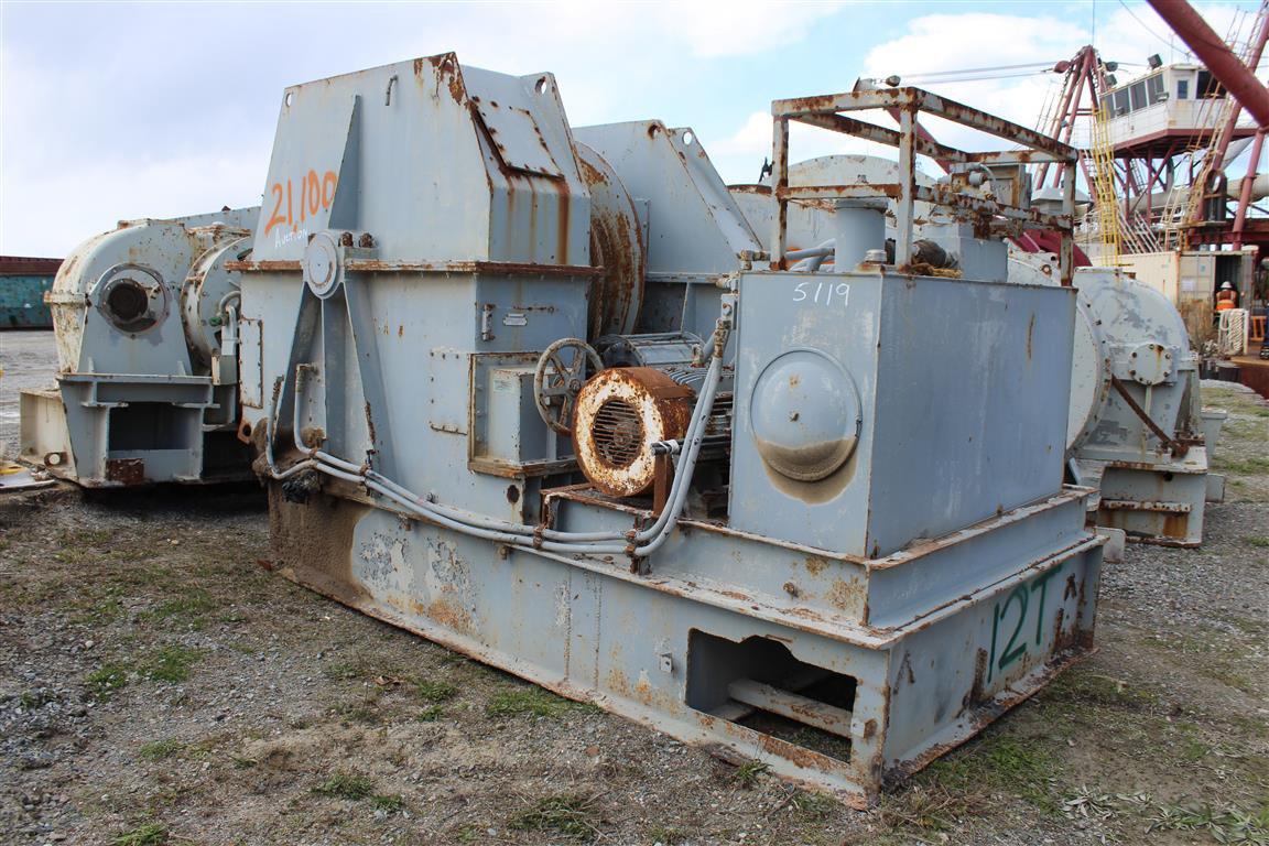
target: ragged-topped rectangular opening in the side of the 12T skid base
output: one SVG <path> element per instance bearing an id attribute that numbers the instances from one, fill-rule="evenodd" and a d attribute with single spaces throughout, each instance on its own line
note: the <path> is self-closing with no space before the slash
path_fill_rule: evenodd
<path id="1" fill-rule="evenodd" d="M 798 661 L 770 638 L 688 634 L 689 708 L 843 762 L 850 760 L 857 684 Z"/>

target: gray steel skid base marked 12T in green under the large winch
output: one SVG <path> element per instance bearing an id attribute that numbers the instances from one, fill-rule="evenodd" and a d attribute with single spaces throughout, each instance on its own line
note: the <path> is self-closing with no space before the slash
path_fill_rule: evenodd
<path id="1" fill-rule="evenodd" d="M 302 585 L 863 808 L 1091 651 L 1088 493 L 879 559 L 684 521 L 646 575 L 406 520 L 341 483 L 305 504 L 272 485 L 270 517 Z M 569 530 L 647 514 L 571 490 L 546 501 Z"/>

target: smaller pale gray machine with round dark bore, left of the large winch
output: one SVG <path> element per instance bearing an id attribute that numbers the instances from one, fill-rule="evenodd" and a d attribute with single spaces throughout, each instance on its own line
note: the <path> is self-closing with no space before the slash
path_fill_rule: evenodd
<path id="1" fill-rule="evenodd" d="M 46 294 L 57 386 L 22 393 L 20 455 L 85 487 L 250 478 L 237 438 L 237 273 L 247 208 L 127 221 Z"/>

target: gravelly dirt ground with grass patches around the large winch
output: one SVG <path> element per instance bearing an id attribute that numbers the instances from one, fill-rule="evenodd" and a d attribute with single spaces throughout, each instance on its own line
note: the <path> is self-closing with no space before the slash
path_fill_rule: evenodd
<path id="1" fill-rule="evenodd" d="M 297 587 L 251 486 L 0 502 L 0 842 L 1269 843 L 1269 403 L 1204 387 L 1203 548 L 867 813 Z"/>

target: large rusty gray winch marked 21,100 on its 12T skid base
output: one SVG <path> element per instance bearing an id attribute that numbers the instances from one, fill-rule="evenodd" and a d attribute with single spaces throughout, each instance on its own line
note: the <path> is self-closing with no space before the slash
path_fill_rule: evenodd
<path id="1" fill-rule="evenodd" d="M 878 107 L 1028 150 L 850 117 Z M 226 265 L 244 434 L 284 575 L 863 807 L 1093 647 L 1075 292 L 900 270 L 917 203 L 1068 244 L 1068 205 L 970 172 L 1074 151 L 917 89 L 773 117 L 768 250 L 690 131 L 572 128 L 549 74 L 449 53 L 287 89 Z M 792 120 L 897 146 L 896 179 L 791 188 Z M 917 184 L 931 151 L 964 179 Z M 834 273 L 788 270 L 822 256 L 786 250 L 793 199 L 834 209 Z"/>

